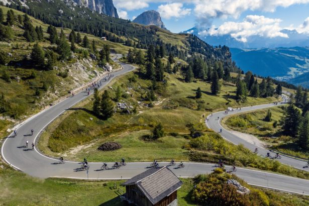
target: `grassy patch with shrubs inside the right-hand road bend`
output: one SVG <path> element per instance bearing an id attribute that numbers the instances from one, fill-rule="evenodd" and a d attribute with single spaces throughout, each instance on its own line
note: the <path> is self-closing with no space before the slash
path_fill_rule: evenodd
<path id="1" fill-rule="evenodd" d="M 224 119 L 223 125 L 232 130 L 254 135 L 264 141 L 269 148 L 309 159 L 308 151 L 301 151 L 297 144 L 294 143 L 292 137 L 282 135 L 279 122 L 283 117 L 283 107 L 270 109 L 272 114 L 271 122 L 265 122 L 263 120 L 267 111 L 268 109 L 263 109 L 255 112 L 233 115 Z M 277 127 L 273 126 L 275 121 L 278 123 Z"/>

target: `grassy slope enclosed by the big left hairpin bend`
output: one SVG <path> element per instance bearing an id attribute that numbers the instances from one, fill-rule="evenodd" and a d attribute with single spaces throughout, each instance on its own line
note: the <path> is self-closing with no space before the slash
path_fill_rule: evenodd
<path id="1" fill-rule="evenodd" d="M 127 161 L 188 160 L 188 150 L 182 149 L 189 142 L 186 125 L 200 122 L 202 114 L 240 106 L 234 99 L 235 86 L 231 84 L 223 84 L 220 95 L 214 96 L 210 94 L 209 83 L 184 83 L 179 80 L 179 75 L 168 75 L 167 85 L 157 91 L 158 100 L 153 102 L 154 107 L 148 108 L 144 104 L 149 102 L 142 101 L 141 96 L 146 95 L 151 82 L 138 77 L 130 81 L 133 76 L 130 73 L 120 77 L 112 87 L 115 91 L 120 85 L 123 93 L 130 92 L 123 101 L 137 107 L 137 114 L 116 114 L 108 121 L 102 121 L 91 114 L 92 102 L 87 99 L 75 107 L 79 109 L 65 113 L 47 128 L 39 142 L 40 149 L 48 155 L 65 153 L 67 158 L 76 160 L 86 155 L 89 161 L 115 161 L 121 157 Z M 194 99 L 197 87 L 203 92 L 198 100 Z M 248 97 L 246 105 L 272 100 L 274 98 Z M 198 105 L 200 110 L 197 110 Z M 163 124 L 166 137 L 155 142 L 143 141 L 142 137 L 150 134 L 159 122 Z M 112 152 L 96 149 L 107 141 L 119 142 L 123 147 Z"/>

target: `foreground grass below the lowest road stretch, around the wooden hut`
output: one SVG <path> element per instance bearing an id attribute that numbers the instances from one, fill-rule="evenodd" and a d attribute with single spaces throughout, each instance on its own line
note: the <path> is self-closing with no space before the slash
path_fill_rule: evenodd
<path id="1" fill-rule="evenodd" d="M 226 176 L 226 175 L 225 175 Z M 234 178 L 237 178 L 233 176 Z M 238 179 L 238 178 L 237 178 Z M 238 179 L 239 180 L 239 179 Z M 181 179 L 183 185 L 178 190 L 178 205 L 196 205 L 192 200 L 193 179 Z M 219 181 L 222 181 L 220 178 Z M 119 186 L 124 181 L 86 181 L 71 179 L 37 179 L 29 177 L 10 168 L 0 169 L 0 187 L 4 188 L 0 195 L 1 205 L 126 205 L 118 197 L 122 191 L 113 189 L 114 182 Z M 247 185 L 252 193 L 253 205 L 307 205 L 306 196 L 287 194 Z M 262 201 L 261 201 L 262 200 Z M 263 202 L 266 204 L 258 204 Z M 268 204 L 267 204 L 268 202 Z"/>

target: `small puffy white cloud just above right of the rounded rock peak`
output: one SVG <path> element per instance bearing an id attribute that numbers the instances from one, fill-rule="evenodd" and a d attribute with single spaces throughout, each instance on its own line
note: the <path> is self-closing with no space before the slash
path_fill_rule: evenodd
<path id="1" fill-rule="evenodd" d="M 191 9 L 183 8 L 181 3 L 171 3 L 166 5 L 160 5 L 158 12 L 164 19 L 170 19 L 171 17 L 181 18 L 191 13 Z"/>

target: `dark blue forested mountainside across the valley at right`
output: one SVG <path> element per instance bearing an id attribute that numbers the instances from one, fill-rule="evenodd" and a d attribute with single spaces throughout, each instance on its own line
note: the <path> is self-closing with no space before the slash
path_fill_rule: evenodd
<path id="1" fill-rule="evenodd" d="M 307 47 L 248 50 L 231 48 L 233 60 L 244 71 L 250 70 L 261 76 L 285 81 L 309 71 L 308 51 Z"/>

